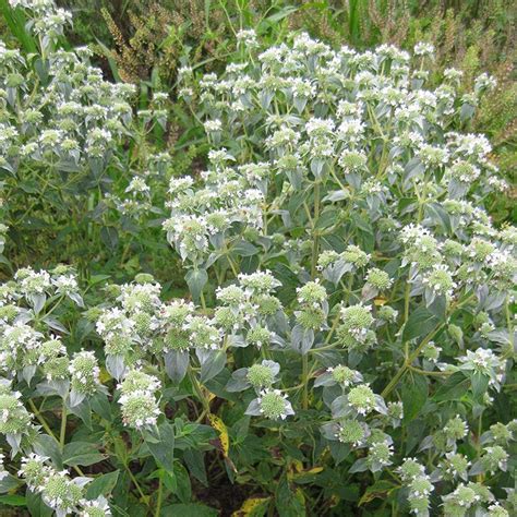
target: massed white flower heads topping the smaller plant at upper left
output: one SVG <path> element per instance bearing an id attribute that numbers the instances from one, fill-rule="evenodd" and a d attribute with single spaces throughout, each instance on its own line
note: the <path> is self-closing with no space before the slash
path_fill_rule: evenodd
<path id="1" fill-rule="evenodd" d="M 47 3 L 48 17 L 41 19 L 36 10 L 34 26 L 57 35 L 57 27 L 45 20 L 57 21 L 60 14 L 51 12 L 53 2 Z M 106 82 L 100 69 L 89 64 L 86 48 L 55 50 L 49 41 L 44 46 L 48 59 L 44 85 L 20 52 L 0 52 L 0 88 L 10 98 L 5 109 L 12 115 L 0 127 L 0 166 L 11 172 L 49 165 L 77 172 L 89 165 L 100 173 L 131 121 L 128 100 L 134 87 Z"/>

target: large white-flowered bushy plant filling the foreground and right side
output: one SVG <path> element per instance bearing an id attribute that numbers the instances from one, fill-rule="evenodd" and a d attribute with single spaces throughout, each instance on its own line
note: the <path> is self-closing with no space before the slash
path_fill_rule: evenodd
<path id="1" fill-rule="evenodd" d="M 213 515 L 221 479 L 236 515 L 515 513 L 517 232 L 467 132 L 492 80 L 425 89 L 428 44 L 238 43 L 181 74 L 212 147 L 168 185 L 190 292 L 70 266 L 0 286 L 0 491 L 32 515 Z"/>

